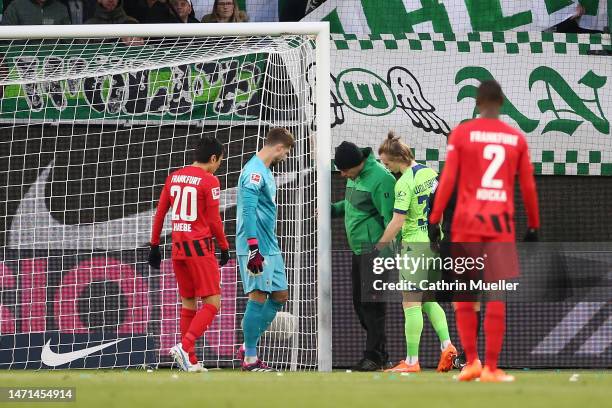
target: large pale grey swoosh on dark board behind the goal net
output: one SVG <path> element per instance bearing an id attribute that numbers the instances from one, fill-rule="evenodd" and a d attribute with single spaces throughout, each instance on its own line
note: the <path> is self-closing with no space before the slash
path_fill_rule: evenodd
<path id="1" fill-rule="evenodd" d="M 52 168 L 53 162 L 38 175 L 21 200 L 8 231 L 9 248 L 128 250 L 145 246 L 149 242 L 155 208 L 124 218 L 78 225 L 66 225 L 54 219 L 45 202 L 45 185 Z M 310 171 L 302 170 L 299 174 L 305 175 Z M 276 185 L 281 187 L 296 178 L 296 173 L 283 173 L 275 177 Z M 235 207 L 237 196 L 236 187 L 223 190 L 221 211 Z M 169 211 L 162 235 L 172 232 L 170 217 Z"/>

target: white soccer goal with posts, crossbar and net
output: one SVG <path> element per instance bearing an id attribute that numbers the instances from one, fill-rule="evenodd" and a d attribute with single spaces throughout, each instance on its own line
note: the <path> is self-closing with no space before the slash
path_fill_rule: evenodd
<path id="1" fill-rule="evenodd" d="M 221 209 L 235 249 L 236 183 L 272 127 L 296 137 L 273 169 L 289 302 L 259 353 L 277 369 L 331 370 L 327 23 L 0 28 L 0 368 L 170 365 L 179 298 L 161 187 L 217 137 Z M 320 108 L 323 107 L 323 108 Z M 164 238 L 165 237 L 165 238 Z M 238 366 L 246 303 L 232 260 L 197 353 Z"/>

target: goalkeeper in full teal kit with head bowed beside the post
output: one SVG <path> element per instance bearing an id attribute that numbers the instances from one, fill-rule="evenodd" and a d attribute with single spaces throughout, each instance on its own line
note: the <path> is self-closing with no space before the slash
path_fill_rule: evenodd
<path id="1" fill-rule="evenodd" d="M 272 371 L 257 357 L 257 343 L 287 301 L 285 263 L 276 237 L 276 183 L 270 166 L 293 147 L 286 129 L 271 129 L 264 147 L 242 169 L 238 180 L 236 255 L 244 293 L 244 344 L 238 350 L 244 371 Z"/>

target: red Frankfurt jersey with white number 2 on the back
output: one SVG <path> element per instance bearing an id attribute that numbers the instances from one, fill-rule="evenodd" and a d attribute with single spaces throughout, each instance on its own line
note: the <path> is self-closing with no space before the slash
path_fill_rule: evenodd
<path id="1" fill-rule="evenodd" d="M 478 118 L 451 132 L 431 216 L 439 223 L 457 185 L 452 232 L 514 236 L 514 180 L 518 175 L 528 226 L 539 228 L 538 197 L 527 141 L 499 119 Z"/>

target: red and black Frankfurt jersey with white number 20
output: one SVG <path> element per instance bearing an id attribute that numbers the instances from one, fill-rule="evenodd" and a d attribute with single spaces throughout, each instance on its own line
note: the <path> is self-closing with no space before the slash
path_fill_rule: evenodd
<path id="1" fill-rule="evenodd" d="M 197 166 L 171 173 L 159 198 L 151 244 L 159 244 L 164 218 L 172 213 L 172 257 L 180 259 L 210 253 L 211 238 L 220 249 L 229 249 L 219 215 L 221 188 L 213 174 Z"/>

